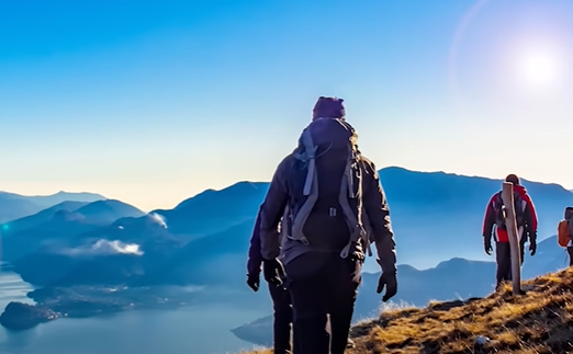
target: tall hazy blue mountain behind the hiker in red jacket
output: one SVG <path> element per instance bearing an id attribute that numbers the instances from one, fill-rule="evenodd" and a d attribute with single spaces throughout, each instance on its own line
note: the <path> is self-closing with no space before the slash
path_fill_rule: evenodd
<path id="1" fill-rule="evenodd" d="M 482 224 L 491 196 L 502 180 L 443 172 L 413 172 L 402 168 L 380 171 L 386 192 L 398 258 L 416 266 L 432 266 L 443 259 L 461 256 L 492 260 L 483 252 Z M 521 183 L 538 213 L 538 239 L 554 233 L 557 222 L 573 193 L 558 184 Z M 401 245 L 401 239 L 407 245 Z"/>

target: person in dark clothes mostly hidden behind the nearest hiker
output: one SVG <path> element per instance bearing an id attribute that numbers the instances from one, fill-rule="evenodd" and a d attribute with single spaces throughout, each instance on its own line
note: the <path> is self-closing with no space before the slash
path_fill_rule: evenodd
<path id="1" fill-rule="evenodd" d="M 258 292 L 260 286 L 260 267 L 262 264 L 262 255 L 260 254 L 260 209 L 257 215 L 252 237 L 250 238 L 249 259 L 247 261 L 247 284 L 254 290 Z M 283 277 L 284 274 L 281 274 Z M 268 283 L 269 293 L 272 299 L 273 309 L 273 353 L 288 354 L 292 353 L 291 345 L 291 323 L 292 323 L 292 306 L 289 292 L 283 284 Z"/>

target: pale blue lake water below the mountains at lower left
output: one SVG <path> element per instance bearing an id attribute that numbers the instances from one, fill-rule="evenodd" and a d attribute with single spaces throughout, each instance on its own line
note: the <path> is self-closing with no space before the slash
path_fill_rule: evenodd
<path id="1" fill-rule="evenodd" d="M 32 287 L 18 274 L 0 273 L 0 306 L 33 304 Z M 0 327 L 0 354 L 227 354 L 252 350 L 229 330 L 271 313 L 233 304 L 177 310 L 128 311 L 104 318 L 59 319 L 24 332 Z"/>

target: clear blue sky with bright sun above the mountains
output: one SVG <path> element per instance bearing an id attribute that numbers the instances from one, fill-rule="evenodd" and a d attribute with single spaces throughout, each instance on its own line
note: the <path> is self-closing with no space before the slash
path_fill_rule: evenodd
<path id="1" fill-rule="evenodd" d="M 572 59 L 570 0 L 0 1 L 0 190 L 270 180 L 318 95 L 379 168 L 573 189 Z"/>

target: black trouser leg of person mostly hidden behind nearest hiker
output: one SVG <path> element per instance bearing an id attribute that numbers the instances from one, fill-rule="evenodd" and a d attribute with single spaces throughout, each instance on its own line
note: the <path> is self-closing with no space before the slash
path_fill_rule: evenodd
<path id="1" fill-rule="evenodd" d="M 292 306 L 291 296 L 284 286 L 269 284 L 269 293 L 272 299 L 273 309 L 273 353 L 290 354 L 291 346 L 291 323 Z"/>

